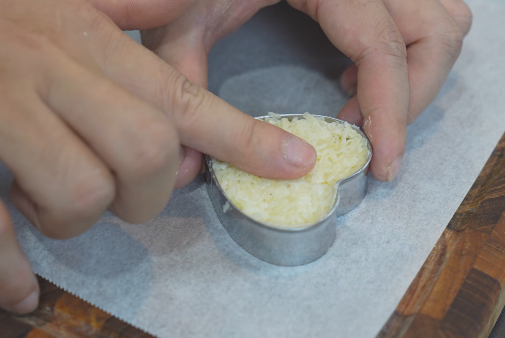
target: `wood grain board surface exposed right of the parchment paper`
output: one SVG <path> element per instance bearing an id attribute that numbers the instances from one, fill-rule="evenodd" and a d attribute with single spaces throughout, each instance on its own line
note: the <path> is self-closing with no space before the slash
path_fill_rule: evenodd
<path id="1" fill-rule="evenodd" d="M 504 211 L 505 135 L 377 337 L 487 337 L 505 302 Z"/>

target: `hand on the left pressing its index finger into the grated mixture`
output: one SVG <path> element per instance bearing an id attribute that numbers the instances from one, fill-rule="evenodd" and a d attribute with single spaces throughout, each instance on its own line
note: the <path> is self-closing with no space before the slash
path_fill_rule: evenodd
<path id="1" fill-rule="evenodd" d="M 121 28 L 165 24 L 156 15 L 187 3 L 161 2 L 152 19 L 149 4 L 131 17 L 102 2 Z M 270 178 L 315 164 L 312 146 L 189 82 L 84 0 L 4 0 L 0 45 L 0 160 L 13 202 L 46 236 L 81 234 L 107 209 L 153 218 L 186 161 L 180 144 Z M 0 307 L 29 312 L 38 292 L 0 201 Z"/>

